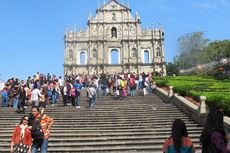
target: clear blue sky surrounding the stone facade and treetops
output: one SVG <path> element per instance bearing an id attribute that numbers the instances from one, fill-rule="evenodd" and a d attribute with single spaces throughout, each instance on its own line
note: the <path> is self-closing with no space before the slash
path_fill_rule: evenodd
<path id="1" fill-rule="evenodd" d="M 27 78 L 37 71 L 63 74 L 66 25 L 86 29 L 103 0 L 0 0 L 0 78 Z M 109 0 L 106 0 L 108 2 Z M 142 27 L 161 23 L 166 61 L 177 38 L 204 31 L 211 40 L 230 39 L 230 0 L 119 0 L 138 12 Z"/>

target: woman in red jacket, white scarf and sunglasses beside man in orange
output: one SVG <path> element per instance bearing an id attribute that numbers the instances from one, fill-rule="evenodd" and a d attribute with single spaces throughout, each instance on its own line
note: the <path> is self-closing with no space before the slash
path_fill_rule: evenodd
<path id="1" fill-rule="evenodd" d="M 31 153 L 32 137 L 28 127 L 29 117 L 22 117 L 19 125 L 16 125 L 11 138 L 11 153 Z"/>

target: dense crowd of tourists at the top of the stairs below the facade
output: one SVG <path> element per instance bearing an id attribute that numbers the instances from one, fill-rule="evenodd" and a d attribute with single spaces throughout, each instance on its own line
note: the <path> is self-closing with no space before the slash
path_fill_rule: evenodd
<path id="1" fill-rule="evenodd" d="M 57 99 L 62 97 L 63 106 L 71 104 L 80 108 L 81 90 L 86 89 L 89 99 L 89 109 L 92 109 L 101 96 L 111 95 L 122 100 L 127 96 L 136 96 L 139 89 L 144 95 L 152 94 L 154 83 L 151 73 L 101 74 L 56 77 L 37 72 L 32 78 L 19 80 L 11 78 L 1 91 L 2 107 L 13 107 L 23 113 L 28 105 L 46 108 L 47 105 L 57 105 Z M 61 96 L 60 96 L 61 95 Z"/>

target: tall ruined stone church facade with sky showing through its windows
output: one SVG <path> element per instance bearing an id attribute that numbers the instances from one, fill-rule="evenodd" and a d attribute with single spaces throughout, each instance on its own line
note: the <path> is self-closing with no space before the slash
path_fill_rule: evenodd
<path id="1" fill-rule="evenodd" d="M 131 9 L 111 0 L 88 18 L 87 30 L 65 32 L 65 75 L 153 72 L 165 68 L 164 30 L 142 29 Z"/>

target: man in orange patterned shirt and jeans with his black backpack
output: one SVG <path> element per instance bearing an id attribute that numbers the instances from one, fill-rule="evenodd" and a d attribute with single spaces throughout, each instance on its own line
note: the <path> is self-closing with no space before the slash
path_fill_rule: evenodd
<path id="1" fill-rule="evenodd" d="M 41 153 L 47 153 L 49 130 L 52 127 L 54 120 L 43 114 L 43 112 L 40 114 L 38 107 L 32 107 L 32 117 L 32 153 L 37 153 L 39 148 Z"/>

